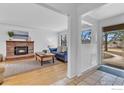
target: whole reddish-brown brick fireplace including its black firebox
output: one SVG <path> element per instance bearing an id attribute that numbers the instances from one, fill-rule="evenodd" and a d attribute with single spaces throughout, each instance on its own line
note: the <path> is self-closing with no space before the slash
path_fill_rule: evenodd
<path id="1" fill-rule="evenodd" d="M 6 41 L 6 59 L 34 56 L 34 41 Z"/>

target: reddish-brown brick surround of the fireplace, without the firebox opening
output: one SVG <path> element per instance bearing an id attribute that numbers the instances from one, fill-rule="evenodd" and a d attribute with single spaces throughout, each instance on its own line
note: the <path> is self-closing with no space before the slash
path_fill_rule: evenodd
<path id="1" fill-rule="evenodd" d="M 28 53 L 23 55 L 15 55 L 15 47 L 28 47 Z M 34 56 L 34 41 L 6 41 L 6 60 L 25 58 Z"/>

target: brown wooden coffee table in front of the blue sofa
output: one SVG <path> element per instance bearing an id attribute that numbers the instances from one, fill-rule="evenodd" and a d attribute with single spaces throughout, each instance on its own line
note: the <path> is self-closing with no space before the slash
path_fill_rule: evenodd
<path id="1" fill-rule="evenodd" d="M 55 55 L 52 53 L 43 54 L 42 52 L 36 52 L 35 55 L 36 55 L 36 60 L 38 60 L 38 58 L 40 58 L 41 66 L 43 65 L 44 59 L 46 59 L 45 61 L 52 60 L 54 63 Z"/>

